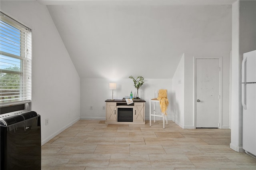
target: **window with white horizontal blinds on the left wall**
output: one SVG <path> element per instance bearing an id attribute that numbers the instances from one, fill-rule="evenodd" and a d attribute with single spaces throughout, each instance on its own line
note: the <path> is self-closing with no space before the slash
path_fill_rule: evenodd
<path id="1" fill-rule="evenodd" d="M 0 106 L 31 101 L 31 30 L 0 13 Z"/>

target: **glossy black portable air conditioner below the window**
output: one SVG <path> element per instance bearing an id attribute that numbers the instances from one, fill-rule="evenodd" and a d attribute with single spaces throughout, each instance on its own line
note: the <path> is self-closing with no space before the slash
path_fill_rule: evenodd
<path id="1" fill-rule="evenodd" d="M 1 170 L 41 169 L 41 123 L 35 111 L 0 115 Z"/>

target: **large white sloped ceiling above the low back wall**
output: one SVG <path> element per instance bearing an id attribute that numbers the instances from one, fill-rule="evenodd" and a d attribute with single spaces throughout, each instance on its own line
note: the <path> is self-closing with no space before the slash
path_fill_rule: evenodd
<path id="1" fill-rule="evenodd" d="M 46 5 L 81 78 L 172 78 L 182 53 L 208 42 L 231 44 L 230 4 L 167 2 Z"/>

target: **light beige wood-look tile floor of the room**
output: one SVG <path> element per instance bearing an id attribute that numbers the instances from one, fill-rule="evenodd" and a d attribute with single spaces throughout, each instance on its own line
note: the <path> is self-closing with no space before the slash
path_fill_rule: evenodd
<path id="1" fill-rule="evenodd" d="M 42 146 L 42 170 L 256 170 L 255 158 L 229 148 L 230 129 L 168 123 L 80 120 Z"/>

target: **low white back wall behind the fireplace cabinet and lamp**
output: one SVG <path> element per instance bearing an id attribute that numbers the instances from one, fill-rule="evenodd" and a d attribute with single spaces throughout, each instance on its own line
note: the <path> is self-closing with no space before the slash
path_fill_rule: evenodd
<path id="1" fill-rule="evenodd" d="M 117 73 L 118 75 L 118 73 Z M 133 75 L 137 77 L 138 75 Z M 143 77 L 143 75 L 142 75 Z M 144 79 L 145 83 L 139 89 L 139 97 L 146 101 L 145 119 L 149 119 L 149 100 L 154 98 L 154 89 L 167 89 L 168 99 L 172 99 L 172 79 Z M 82 79 L 81 78 L 81 119 L 106 119 L 106 111 L 102 109 L 105 106 L 105 100 L 112 99 L 112 90 L 109 89 L 109 83 L 116 83 L 114 90 L 114 99 L 122 99 L 130 95 L 132 91 L 136 96 L 132 79 L 118 79 L 111 81 L 109 79 Z M 170 101 L 172 102 L 172 101 Z M 92 106 L 92 110 L 90 110 Z M 171 119 L 171 105 L 168 106 L 168 120 Z"/>

